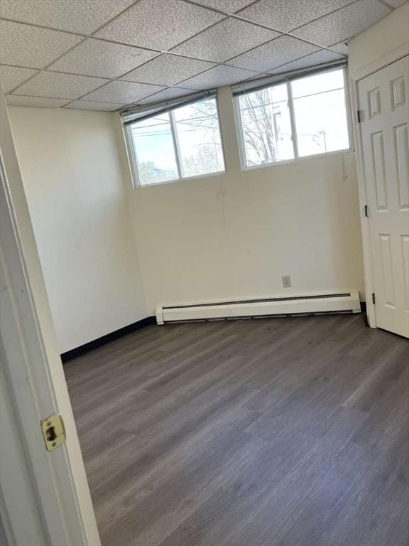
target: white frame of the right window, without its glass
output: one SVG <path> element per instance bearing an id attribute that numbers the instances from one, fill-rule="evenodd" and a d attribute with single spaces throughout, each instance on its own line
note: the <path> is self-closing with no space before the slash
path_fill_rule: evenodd
<path id="1" fill-rule="evenodd" d="M 250 88 L 248 91 L 239 93 L 237 95 L 233 96 L 233 102 L 234 102 L 234 117 L 236 119 L 236 133 L 237 133 L 237 139 L 239 141 L 239 155 L 240 155 L 240 166 L 241 171 L 252 171 L 255 168 L 266 168 L 266 167 L 273 167 L 276 165 L 285 165 L 290 163 L 295 163 L 298 161 L 304 161 L 309 160 L 312 158 L 320 158 L 320 157 L 327 157 L 334 154 L 344 154 L 346 151 L 354 151 L 354 132 L 352 127 L 352 116 L 351 116 L 351 97 L 349 96 L 349 75 L 348 75 L 348 69 L 347 66 L 332 66 L 329 67 L 327 70 L 320 70 L 319 73 L 330 73 L 334 72 L 335 70 L 342 70 L 343 75 L 343 81 L 344 81 L 344 93 L 345 93 L 345 112 L 347 116 L 347 133 L 348 133 L 348 144 L 349 146 L 347 148 L 339 149 L 339 150 L 332 150 L 332 151 L 322 151 L 318 154 L 310 154 L 307 156 L 300 156 L 298 154 L 298 138 L 297 138 L 297 128 L 295 124 L 295 110 L 294 110 L 294 100 L 293 100 L 293 90 L 291 88 L 291 83 L 295 80 L 302 80 L 305 77 L 308 77 L 310 75 L 315 75 L 315 72 L 308 73 L 303 72 L 299 75 L 292 75 L 291 77 L 286 77 L 283 80 L 278 80 L 276 82 L 272 82 L 270 85 L 266 85 L 265 87 L 274 87 L 276 85 L 283 85 L 285 83 L 287 85 L 287 96 L 288 96 L 288 109 L 290 113 L 290 123 L 291 123 L 291 131 L 292 131 L 292 142 L 293 142 L 293 151 L 294 151 L 294 157 L 292 159 L 281 159 L 280 161 L 271 161 L 271 163 L 261 163 L 258 165 L 247 165 L 247 157 L 246 157 L 246 146 L 244 143 L 244 131 L 243 131 L 243 123 L 242 123 L 242 117 L 241 117 L 241 108 L 240 108 L 240 95 L 245 95 L 247 93 L 251 93 L 256 91 L 255 88 Z"/>

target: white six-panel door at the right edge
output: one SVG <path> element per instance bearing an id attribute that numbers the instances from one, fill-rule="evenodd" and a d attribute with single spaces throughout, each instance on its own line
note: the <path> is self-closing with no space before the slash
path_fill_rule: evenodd
<path id="1" fill-rule="evenodd" d="M 358 83 L 376 326 L 409 337 L 409 57 Z"/>

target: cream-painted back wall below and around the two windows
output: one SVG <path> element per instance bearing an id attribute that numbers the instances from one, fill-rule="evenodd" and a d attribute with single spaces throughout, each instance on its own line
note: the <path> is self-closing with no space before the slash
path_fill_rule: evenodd
<path id="1" fill-rule="evenodd" d="M 136 190 L 117 119 L 148 314 L 157 304 L 307 291 L 364 296 L 354 153 L 241 171 L 228 87 L 219 115 L 227 173 Z"/>

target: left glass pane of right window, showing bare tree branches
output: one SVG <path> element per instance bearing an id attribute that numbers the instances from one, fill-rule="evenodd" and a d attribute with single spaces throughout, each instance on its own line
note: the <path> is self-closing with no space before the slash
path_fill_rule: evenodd
<path id="1" fill-rule="evenodd" d="M 246 166 L 293 159 L 287 85 L 240 95 Z"/>

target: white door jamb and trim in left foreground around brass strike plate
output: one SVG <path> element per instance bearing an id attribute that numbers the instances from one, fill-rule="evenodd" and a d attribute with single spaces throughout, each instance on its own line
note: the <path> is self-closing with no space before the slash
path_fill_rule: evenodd
<path id="1" fill-rule="evenodd" d="M 1 85 L 0 121 L 1 530 L 16 546 L 99 546 Z M 66 441 L 47 451 L 53 414 Z"/>

